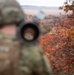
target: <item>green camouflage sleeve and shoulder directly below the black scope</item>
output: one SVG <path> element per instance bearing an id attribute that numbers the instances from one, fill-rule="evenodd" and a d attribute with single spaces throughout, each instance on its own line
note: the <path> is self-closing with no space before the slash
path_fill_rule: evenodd
<path id="1" fill-rule="evenodd" d="M 20 75 L 52 75 L 50 64 L 38 45 L 23 46 L 20 56 Z"/>

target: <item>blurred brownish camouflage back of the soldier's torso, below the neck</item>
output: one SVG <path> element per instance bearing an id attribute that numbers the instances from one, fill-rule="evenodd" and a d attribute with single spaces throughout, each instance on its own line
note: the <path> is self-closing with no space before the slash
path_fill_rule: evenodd
<path id="1" fill-rule="evenodd" d="M 0 75 L 19 75 L 20 51 L 15 36 L 0 33 Z"/>

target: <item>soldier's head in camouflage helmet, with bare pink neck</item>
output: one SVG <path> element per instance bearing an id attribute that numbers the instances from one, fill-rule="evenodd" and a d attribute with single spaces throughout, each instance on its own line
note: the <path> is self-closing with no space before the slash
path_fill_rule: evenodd
<path id="1" fill-rule="evenodd" d="M 25 14 L 16 0 L 4 1 L 0 5 L 0 32 L 15 33 Z"/>

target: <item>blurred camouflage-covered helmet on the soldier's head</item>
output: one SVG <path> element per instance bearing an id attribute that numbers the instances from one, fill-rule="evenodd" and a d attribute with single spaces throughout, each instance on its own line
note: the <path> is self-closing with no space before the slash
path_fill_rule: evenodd
<path id="1" fill-rule="evenodd" d="M 20 23 L 24 12 L 16 0 L 0 0 L 0 25 Z"/>

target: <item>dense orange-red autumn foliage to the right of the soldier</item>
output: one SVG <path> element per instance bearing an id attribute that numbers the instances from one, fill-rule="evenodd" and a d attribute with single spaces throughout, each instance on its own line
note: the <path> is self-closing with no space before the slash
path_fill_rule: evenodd
<path id="1" fill-rule="evenodd" d="M 53 71 L 72 75 L 74 72 L 74 26 L 57 27 L 55 34 L 40 37 L 40 45 L 51 62 Z"/>

